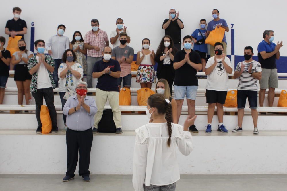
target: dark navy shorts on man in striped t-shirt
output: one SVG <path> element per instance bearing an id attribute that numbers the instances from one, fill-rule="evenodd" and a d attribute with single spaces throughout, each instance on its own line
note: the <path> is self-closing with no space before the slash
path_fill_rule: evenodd
<path id="1" fill-rule="evenodd" d="M 257 91 L 251 90 L 237 90 L 237 108 L 245 108 L 246 97 L 248 98 L 249 108 L 257 108 Z"/>

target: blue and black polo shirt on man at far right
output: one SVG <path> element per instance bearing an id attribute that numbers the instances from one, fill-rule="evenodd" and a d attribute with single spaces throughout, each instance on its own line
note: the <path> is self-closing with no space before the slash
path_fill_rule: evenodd
<path id="1" fill-rule="evenodd" d="M 275 69 L 276 67 L 276 55 L 274 54 L 270 58 L 266 58 L 265 60 L 262 58 L 260 52 L 265 51 L 266 53 L 272 52 L 275 50 L 276 44 L 274 42 L 266 42 L 265 40 L 262 40 L 257 47 L 258 51 L 258 61 L 261 64 L 261 68 L 266 69 Z"/>

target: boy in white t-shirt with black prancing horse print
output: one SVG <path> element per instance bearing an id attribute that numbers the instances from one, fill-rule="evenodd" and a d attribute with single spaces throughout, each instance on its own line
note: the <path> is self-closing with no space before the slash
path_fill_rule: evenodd
<path id="1" fill-rule="evenodd" d="M 216 42 L 214 44 L 214 52 L 215 56 L 209 58 L 205 66 L 205 74 L 207 75 L 206 103 L 208 103 L 205 133 L 211 133 L 211 122 L 215 106 L 219 122 L 217 131 L 228 133 L 223 125 L 223 104 L 228 91 L 228 74 L 232 73 L 231 62 L 225 54 L 222 54 L 222 43 Z"/>

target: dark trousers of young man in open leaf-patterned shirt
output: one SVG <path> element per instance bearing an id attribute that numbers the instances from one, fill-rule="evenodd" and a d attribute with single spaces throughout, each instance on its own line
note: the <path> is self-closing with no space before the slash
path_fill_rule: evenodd
<path id="1" fill-rule="evenodd" d="M 49 109 L 50 118 L 52 121 L 52 127 L 57 127 L 57 113 L 54 105 L 54 91 L 53 88 L 37 89 L 37 93 L 32 93 L 36 102 L 36 118 L 38 127 L 42 127 L 40 111 L 43 105 L 43 98 L 46 101 L 46 105 Z"/>

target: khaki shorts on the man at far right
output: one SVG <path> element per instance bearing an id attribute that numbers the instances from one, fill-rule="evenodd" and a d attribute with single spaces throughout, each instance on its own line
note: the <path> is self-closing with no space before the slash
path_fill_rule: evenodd
<path id="1" fill-rule="evenodd" d="M 262 78 L 259 80 L 260 89 L 278 88 L 277 69 L 262 68 Z"/>

